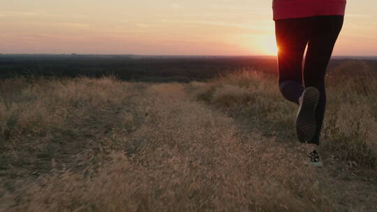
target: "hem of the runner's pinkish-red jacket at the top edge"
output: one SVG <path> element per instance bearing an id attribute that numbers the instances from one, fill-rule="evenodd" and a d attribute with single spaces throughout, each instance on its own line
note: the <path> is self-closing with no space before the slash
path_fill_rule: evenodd
<path id="1" fill-rule="evenodd" d="M 344 15 L 346 0 L 273 0 L 272 9 L 274 20 L 316 15 Z"/>

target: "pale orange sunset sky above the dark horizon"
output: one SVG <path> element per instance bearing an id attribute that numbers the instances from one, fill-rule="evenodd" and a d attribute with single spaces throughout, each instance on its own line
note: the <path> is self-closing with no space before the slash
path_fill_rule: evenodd
<path id="1" fill-rule="evenodd" d="M 3 0 L 3 54 L 270 55 L 270 0 Z M 334 55 L 377 55 L 377 1 L 348 0 Z"/>

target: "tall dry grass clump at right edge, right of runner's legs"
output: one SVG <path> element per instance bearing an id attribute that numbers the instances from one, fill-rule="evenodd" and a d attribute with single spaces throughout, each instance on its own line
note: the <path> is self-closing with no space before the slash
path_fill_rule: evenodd
<path id="1" fill-rule="evenodd" d="M 377 70 L 348 61 L 327 76 L 326 145 L 348 160 L 377 165 Z"/>

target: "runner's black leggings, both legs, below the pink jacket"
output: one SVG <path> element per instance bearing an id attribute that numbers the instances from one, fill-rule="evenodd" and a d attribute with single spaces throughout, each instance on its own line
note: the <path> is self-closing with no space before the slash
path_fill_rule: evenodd
<path id="1" fill-rule="evenodd" d="M 314 86 L 320 91 L 316 109 L 318 128 L 310 142 L 313 144 L 320 142 L 320 130 L 326 106 L 325 73 L 342 26 L 343 16 L 341 15 L 275 21 L 281 93 L 287 100 L 298 104 L 304 87 Z M 302 58 L 306 45 L 308 48 L 303 72 Z"/>

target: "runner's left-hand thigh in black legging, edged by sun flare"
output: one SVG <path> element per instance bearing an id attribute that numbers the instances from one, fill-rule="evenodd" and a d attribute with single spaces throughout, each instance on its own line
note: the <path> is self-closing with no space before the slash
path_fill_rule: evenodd
<path id="1" fill-rule="evenodd" d="M 302 58 L 309 40 L 309 18 L 276 20 L 276 44 L 279 48 L 279 84 L 295 81 L 302 84 Z"/>

